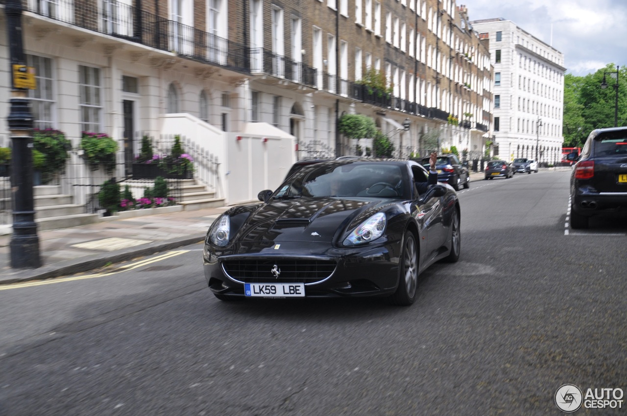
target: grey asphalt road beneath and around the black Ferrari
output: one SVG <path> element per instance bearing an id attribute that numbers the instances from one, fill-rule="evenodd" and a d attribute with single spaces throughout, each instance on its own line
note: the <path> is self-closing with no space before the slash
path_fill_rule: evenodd
<path id="1" fill-rule="evenodd" d="M 224 303 L 200 245 L 0 287 L 0 416 L 559 415 L 565 383 L 624 392 L 627 224 L 571 232 L 568 174 L 461 190 L 461 259 L 409 308 Z"/>

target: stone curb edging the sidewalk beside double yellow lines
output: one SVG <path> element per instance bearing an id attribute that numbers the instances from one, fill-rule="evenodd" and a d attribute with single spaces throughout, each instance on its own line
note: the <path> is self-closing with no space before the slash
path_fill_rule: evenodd
<path id="1" fill-rule="evenodd" d="M 107 266 L 109 263 L 129 261 L 135 257 L 150 256 L 150 254 L 155 254 L 160 251 L 189 246 L 189 244 L 196 244 L 204 241 L 205 235 L 206 233 L 203 232 L 202 234 L 196 234 L 192 237 L 181 237 L 178 239 L 152 242 L 150 244 L 145 244 L 143 247 L 137 247 L 137 249 L 121 249 L 106 254 L 98 254 L 93 257 L 87 256 L 87 258 L 81 257 L 79 259 L 64 260 L 58 263 L 49 264 L 48 266 L 42 266 L 38 269 L 21 269 L 13 273 L 14 275 L 19 274 L 19 276 L 15 276 L 13 278 L 10 276 L 0 278 L 0 284 L 45 280 L 75 273 L 83 273 L 85 271 L 102 268 Z"/>

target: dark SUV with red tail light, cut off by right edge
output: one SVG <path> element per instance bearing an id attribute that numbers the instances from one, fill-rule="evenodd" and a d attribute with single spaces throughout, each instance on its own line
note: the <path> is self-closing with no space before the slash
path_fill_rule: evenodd
<path id="1" fill-rule="evenodd" d="M 599 128 L 586 140 L 571 174 L 571 227 L 597 214 L 627 213 L 627 127 Z"/>

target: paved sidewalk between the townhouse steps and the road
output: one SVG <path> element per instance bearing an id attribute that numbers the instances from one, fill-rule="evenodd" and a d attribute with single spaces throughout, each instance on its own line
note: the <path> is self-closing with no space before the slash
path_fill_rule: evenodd
<path id="1" fill-rule="evenodd" d="M 11 268 L 11 234 L 0 236 L 0 284 L 83 273 L 201 242 L 226 209 L 177 211 L 39 231 L 41 267 L 37 269 Z"/>

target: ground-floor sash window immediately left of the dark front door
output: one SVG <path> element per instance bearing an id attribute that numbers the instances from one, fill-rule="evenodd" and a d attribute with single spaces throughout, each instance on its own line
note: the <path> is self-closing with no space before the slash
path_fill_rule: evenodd
<path id="1" fill-rule="evenodd" d="M 102 113 L 102 87 L 100 69 L 91 66 L 78 66 L 81 128 L 83 132 L 100 132 Z"/>

